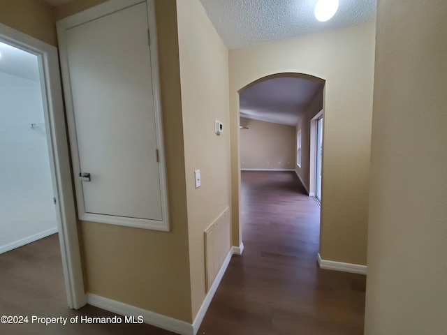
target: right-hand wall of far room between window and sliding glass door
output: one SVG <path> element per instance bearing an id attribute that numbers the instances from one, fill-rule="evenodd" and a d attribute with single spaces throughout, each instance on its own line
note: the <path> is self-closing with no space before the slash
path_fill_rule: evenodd
<path id="1" fill-rule="evenodd" d="M 301 166 L 295 163 L 295 171 L 300 176 L 302 183 L 304 184 L 307 191 L 311 189 L 310 187 L 310 142 L 311 142 L 311 120 L 316 114 L 321 112 L 323 109 L 323 89 L 321 88 L 315 96 L 310 101 L 307 106 L 305 113 L 302 114 L 296 125 L 296 132 L 301 131 Z"/>

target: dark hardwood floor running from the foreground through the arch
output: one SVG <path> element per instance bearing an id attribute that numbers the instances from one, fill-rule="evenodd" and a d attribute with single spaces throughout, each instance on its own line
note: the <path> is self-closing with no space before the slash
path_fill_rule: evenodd
<path id="1" fill-rule="evenodd" d="M 319 269 L 319 207 L 295 172 L 242 172 L 244 253 L 198 334 L 360 335 L 365 276 Z"/>

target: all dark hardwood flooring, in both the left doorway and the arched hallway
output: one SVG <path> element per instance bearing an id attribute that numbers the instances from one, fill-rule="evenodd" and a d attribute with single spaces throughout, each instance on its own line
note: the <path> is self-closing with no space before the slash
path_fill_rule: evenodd
<path id="1" fill-rule="evenodd" d="M 245 250 L 233 256 L 198 334 L 360 335 L 365 276 L 321 270 L 319 207 L 294 172 L 242 172 Z M 115 314 L 66 307 L 57 234 L 0 255 L 0 315 Z M 150 325 L 1 325 L 1 335 L 168 335 Z"/>

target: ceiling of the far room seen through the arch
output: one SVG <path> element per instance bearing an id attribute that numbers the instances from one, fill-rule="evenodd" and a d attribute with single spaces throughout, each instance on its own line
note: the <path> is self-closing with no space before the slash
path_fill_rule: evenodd
<path id="1" fill-rule="evenodd" d="M 323 82 L 298 77 L 258 82 L 240 93 L 240 116 L 295 126 L 321 87 Z"/>

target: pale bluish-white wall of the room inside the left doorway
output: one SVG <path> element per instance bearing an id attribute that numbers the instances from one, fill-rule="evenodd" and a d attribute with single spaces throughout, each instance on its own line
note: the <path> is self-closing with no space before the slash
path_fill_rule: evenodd
<path id="1" fill-rule="evenodd" d="M 0 101 L 1 253 L 57 232 L 57 218 L 41 83 L 0 72 Z"/>

